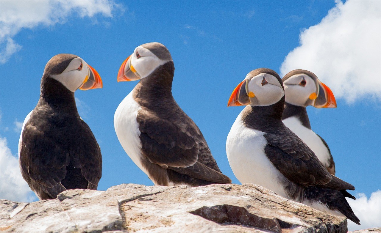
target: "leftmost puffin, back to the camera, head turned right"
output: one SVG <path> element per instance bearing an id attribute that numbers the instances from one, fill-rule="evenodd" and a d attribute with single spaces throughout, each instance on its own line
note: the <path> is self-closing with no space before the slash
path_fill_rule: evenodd
<path id="1" fill-rule="evenodd" d="M 18 150 L 22 177 L 40 200 L 98 187 L 101 149 L 74 99 L 77 89 L 94 88 L 102 88 L 101 77 L 76 55 L 58 54 L 45 66 L 40 99 L 24 120 Z"/>

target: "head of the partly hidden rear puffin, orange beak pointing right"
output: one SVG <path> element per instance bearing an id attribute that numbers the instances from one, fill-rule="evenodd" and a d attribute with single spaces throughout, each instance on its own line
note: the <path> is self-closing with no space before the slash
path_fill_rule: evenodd
<path id="1" fill-rule="evenodd" d="M 328 86 L 308 70 L 293 70 L 282 78 L 286 102 L 296 106 L 336 108 L 335 96 Z"/>

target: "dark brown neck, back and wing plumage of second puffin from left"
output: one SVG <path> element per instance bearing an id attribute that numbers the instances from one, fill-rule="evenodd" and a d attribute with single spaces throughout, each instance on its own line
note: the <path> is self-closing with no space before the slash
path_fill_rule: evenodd
<path id="1" fill-rule="evenodd" d="M 218 168 L 200 129 L 174 100 L 173 74 L 173 62 L 166 62 L 134 88 L 134 99 L 141 106 L 136 120 L 142 164 L 159 185 L 231 183 Z"/>

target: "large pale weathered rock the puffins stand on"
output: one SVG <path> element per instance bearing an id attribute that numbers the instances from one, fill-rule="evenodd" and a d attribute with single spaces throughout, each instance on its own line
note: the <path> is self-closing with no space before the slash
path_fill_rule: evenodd
<path id="1" fill-rule="evenodd" d="M 67 190 L 33 203 L 0 200 L 0 231 L 346 233 L 347 221 L 254 184 L 122 184 L 106 191 Z"/>

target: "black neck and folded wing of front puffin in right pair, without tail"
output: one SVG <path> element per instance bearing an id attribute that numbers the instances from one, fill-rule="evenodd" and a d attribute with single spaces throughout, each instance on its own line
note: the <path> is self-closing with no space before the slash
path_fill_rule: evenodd
<path id="1" fill-rule="evenodd" d="M 353 185 L 331 175 L 314 152 L 281 120 L 284 97 L 270 106 L 247 106 L 244 124 L 265 132 L 267 158 L 287 179 L 303 186 L 320 185 L 338 190 L 354 189 Z M 281 109 L 280 109 L 281 108 Z"/>

